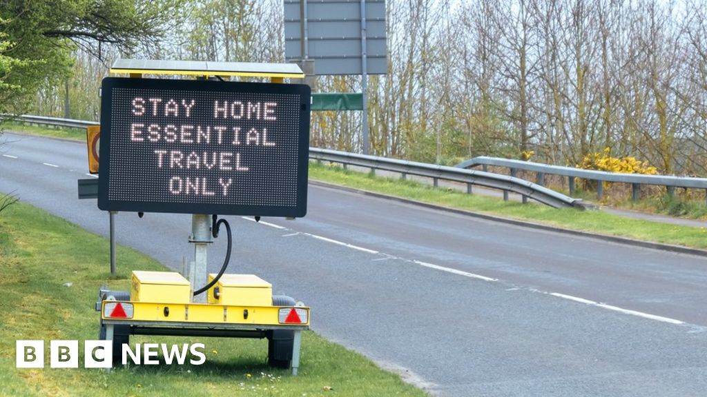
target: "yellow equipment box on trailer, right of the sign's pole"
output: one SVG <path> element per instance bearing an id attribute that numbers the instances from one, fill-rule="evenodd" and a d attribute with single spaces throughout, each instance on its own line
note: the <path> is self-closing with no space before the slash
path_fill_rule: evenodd
<path id="1" fill-rule="evenodd" d="M 209 283 L 215 277 L 216 274 L 209 274 Z M 208 302 L 237 306 L 272 306 L 272 285 L 254 274 L 224 274 L 216 285 L 209 289 Z"/>

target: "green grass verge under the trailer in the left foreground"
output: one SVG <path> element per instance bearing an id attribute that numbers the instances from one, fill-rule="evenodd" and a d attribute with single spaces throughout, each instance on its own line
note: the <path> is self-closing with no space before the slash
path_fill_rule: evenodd
<path id="1" fill-rule="evenodd" d="M 82 340 L 97 339 L 93 302 L 101 284 L 127 290 L 133 269 L 165 270 L 132 249 L 119 247 L 117 254 L 119 271 L 111 276 L 106 239 L 24 203 L 0 213 L 0 396 L 425 396 L 310 331 L 298 377 L 267 367 L 267 340 L 223 338 L 131 338 L 131 344 L 204 343 L 204 365 L 133 366 L 109 374 L 84 369 L 81 357 L 78 369 L 49 368 L 49 340 L 79 340 L 83 355 Z M 46 368 L 15 368 L 21 339 L 45 340 Z"/>

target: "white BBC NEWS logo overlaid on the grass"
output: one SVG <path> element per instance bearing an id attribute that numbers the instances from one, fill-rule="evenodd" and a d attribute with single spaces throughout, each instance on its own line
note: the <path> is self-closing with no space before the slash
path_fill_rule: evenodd
<path id="1" fill-rule="evenodd" d="M 189 358 L 189 364 L 202 365 L 206 362 L 204 344 L 193 343 L 189 345 L 167 345 L 165 343 L 136 343 L 135 348 L 124 343 L 121 351 L 122 365 L 132 362 L 136 365 L 158 365 L 159 355 L 166 365 L 176 362 L 184 365 Z M 44 368 L 45 367 L 45 341 L 44 340 L 17 340 L 16 342 L 16 367 L 18 368 Z M 51 368 L 78 368 L 78 340 L 51 340 L 49 342 L 49 367 Z M 85 340 L 83 343 L 83 366 L 86 368 L 111 368 L 113 367 L 112 340 Z"/>

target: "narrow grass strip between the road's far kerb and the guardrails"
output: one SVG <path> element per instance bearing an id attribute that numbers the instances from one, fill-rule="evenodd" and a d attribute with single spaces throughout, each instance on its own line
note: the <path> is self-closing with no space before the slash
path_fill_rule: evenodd
<path id="1" fill-rule="evenodd" d="M 503 201 L 478 194 L 469 195 L 455 189 L 435 189 L 409 180 L 375 177 L 372 174 L 344 170 L 337 165 L 319 165 L 316 162 L 310 162 L 310 179 L 572 230 L 707 249 L 707 229 L 704 227 L 668 225 L 625 218 L 602 211 L 556 209 L 534 203 Z"/>

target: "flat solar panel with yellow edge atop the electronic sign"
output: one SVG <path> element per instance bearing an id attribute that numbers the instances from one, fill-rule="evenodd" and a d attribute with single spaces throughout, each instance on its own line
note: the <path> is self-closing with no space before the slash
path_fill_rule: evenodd
<path id="1" fill-rule="evenodd" d="M 303 78 L 297 64 L 253 62 L 170 61 L 162 59 L 117 59 L 110 73 L 187 74 L 197 76 L 245 76 Z"/>

